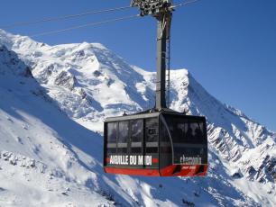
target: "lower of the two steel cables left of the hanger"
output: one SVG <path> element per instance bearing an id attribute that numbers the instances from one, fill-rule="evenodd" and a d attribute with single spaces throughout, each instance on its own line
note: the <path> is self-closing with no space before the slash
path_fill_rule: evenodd
<path id="1" fill-rule="evenodd" d="M 65 28 L 65 29 L 57 30 L 57 31 L 45 31 L 45 32 L 41 32 L 41 33 L 32 34 L 29 37 L 45 36 L 45 35 L 60 33 L 60 32 L 64 32 L 64 31 L 77 30 L 77 29 L 84 28 L 84 27 L 97 26 L 97 25 L 105 24 L 105 23 L 115 23 L 115 22 L 120 22 L 120 21 L 124 21 L 124 20 L 130 20 L 130 19 L 133 19 L 135 17 L 140 17 L 140 14 L 125 16 L 125 17 L 116 18 L 116 19 L 110 19 L 110 20 L 97 22 L 97 23 L 86 23 L 86 24 L 82 24 L 82 25 L 78 25 L 78 26 L 74 26 L 74 27 L 69 27 L 69 28 Z"/>

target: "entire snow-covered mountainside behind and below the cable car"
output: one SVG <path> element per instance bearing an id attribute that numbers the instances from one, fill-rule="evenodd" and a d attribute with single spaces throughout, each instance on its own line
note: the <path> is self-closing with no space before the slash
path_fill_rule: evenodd
<path id="1" fill-rule="evenodd" d="M 276 206 L 276 134 L 186 69 L 171 71 L 171 108 L 207 117 L 207 177 L 103 172 L 105 117 L 151 108 L 154 82 L 99 43 L 0 30 L 0 206 Z"/>

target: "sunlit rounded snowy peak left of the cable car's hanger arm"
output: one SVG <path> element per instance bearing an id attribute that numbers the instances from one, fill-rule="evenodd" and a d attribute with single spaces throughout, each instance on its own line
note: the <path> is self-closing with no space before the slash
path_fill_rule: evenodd
<path id="1" fill-rule="evenodd" d="M 18 48 L 18 38 L 12 37 L 11 47 L 32 67 L 36 80 L 51 88 L 51 97 L 69 116 L 98 122 L 108 114 L 137 112 L 154 104 L 152 83 L 146 80 L 151 75 L 145 77 L 142 69 L 99 43 L 50 47 L 27 39 Z"/>

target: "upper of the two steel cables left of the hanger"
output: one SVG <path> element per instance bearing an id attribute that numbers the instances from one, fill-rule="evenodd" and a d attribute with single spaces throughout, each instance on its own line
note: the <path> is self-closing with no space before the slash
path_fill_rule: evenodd
<path id="1" fill-rule="evenodd" d="M 32 22 L 12 23 L 10 25 L 5 25 L 1 28 L 9 29 L 9 28 L 17 27 L 17 26 L 27 26 L 27 25 L 38 24 L 38 23 L 56 22 L 56 21 L 68 20 L 68 19 L 72 19 L 72 18 L 87 16 L 87 15 L 93 15 L 93 14 L 103 14 L 103 13 L 116 12 L 116 11 L 126 10 L 126 9 L 130 9 L 130 8 L 132 8 L 132 6 L 122 6 L 122 7 L 99 10 L 99 11 L 89 11 L 89 12 L 81 13 L 81 14 L 70 14 L 70 15 L 65 15 L 65 16 L 45 18 L 45 19 L 32 21 Z"/>

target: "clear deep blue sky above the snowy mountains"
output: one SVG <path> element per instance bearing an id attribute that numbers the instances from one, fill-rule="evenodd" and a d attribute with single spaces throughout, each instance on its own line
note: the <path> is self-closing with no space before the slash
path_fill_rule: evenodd
<path id="1" fill-rule="evenodd" d="M 175 0 L 175 4 L 181 0 Z M 128 5 L 130 0 L 9 0 L 0 28 L 11 23 Z M 276 131 L 276 1 L 201 0 L 179 8 L 172 24 L 171 63 L 186 67 L 210 94 Z M 136 9 L 67 22 L 18 26 L 32 35 L 136 14 Z M 151 17 L 34 38 L 48 44 L 100 42 L 129 63 L 155 70 L 156 23 Z"/>

